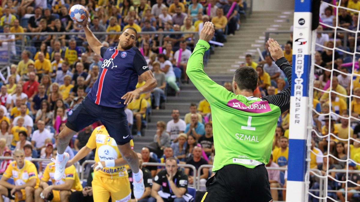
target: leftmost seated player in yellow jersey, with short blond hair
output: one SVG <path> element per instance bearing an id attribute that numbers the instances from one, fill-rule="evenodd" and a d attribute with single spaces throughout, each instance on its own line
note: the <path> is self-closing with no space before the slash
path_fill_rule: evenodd
<path id="1" fill-rule="evenodd" d="M 23 150 L 15 150 L 13 158 L 15 161 L 10 163 L 1 177 L 0 194 L 15 199 L 15 201 L 32 202 L 34 201 L 34 191 L 39 187 L 40 181 L 37 177 L 36 167 L 31 161 L 25 160 Z M 7 182 L 11 177 L 14 179 L 15 185 Z M 1 196 L 0 202 L 3 202 Z"/>

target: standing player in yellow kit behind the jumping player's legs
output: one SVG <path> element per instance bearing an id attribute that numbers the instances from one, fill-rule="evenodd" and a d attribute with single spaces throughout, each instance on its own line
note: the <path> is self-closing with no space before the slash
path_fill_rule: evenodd
<path id="1" fill-rule="evenodd" d="M 131 148 L 134 142 L 130 140 Z M 109 136 L 104 126 L 96 127 L 86 146 L 82 147 L 66 166 L 73 165 L 96 148 L 93 178 L 93 196 L 96 202 L 130 202 L 131 189 L 126 160 L 121 157 L 114 138 Z"/>

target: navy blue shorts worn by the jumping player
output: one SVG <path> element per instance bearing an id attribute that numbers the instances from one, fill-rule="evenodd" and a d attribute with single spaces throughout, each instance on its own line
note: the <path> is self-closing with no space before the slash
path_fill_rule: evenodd
<path id="1" fill-rule="evenodd" d="M 73 131 L 78 132 L 96 121 L 101 121 L 117 145 L 125 145 L 132 139 L 124 108 L 101 106 L 85 97 L 67 116 L 66 126 Z"/>

